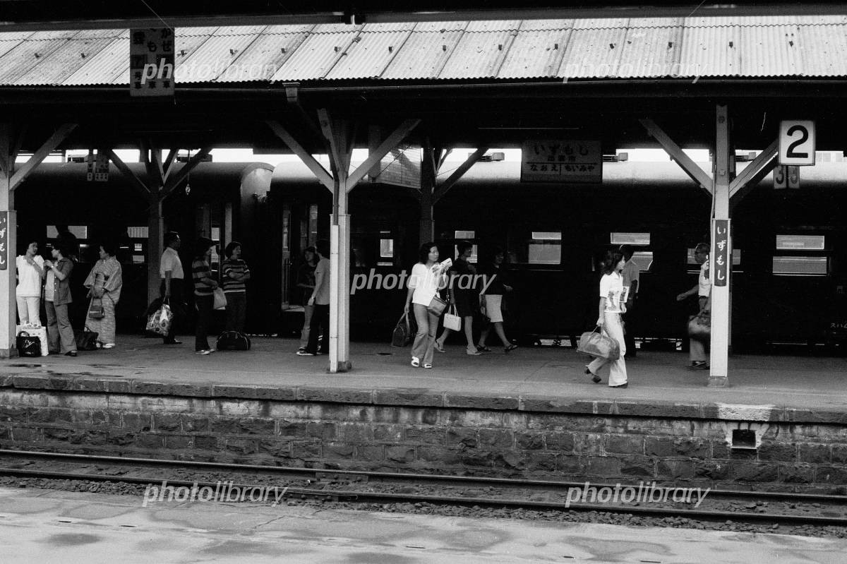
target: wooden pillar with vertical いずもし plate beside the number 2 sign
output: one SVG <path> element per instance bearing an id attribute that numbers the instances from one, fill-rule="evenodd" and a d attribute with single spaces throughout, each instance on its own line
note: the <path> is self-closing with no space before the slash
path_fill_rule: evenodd
<path id="1" fill-rule="evenodd" d="M 732 171 L 730 170 L 730 159 L 734 149 L 729 138 L 729 116 L 726 106 L 717 106 L 716 111 L 716 138 L 715 138 L 715 179 L 712 202 L 715 219 L 729 219 L 729 189 L 732 183 Z M 729 357 L 729 288 L 732 284 L 732 234 L 727 237 L 727 256 L 729 264 L 727 267 L 728 284 L 724 286 L 711 286 L 711 357 L 709 386 L 725 387 L 729 385 L 728 357 Z M 709 253 L 709 272 L 714 278 L 715 258 L 715 235 L 711 235 L 711 252 Z"/>

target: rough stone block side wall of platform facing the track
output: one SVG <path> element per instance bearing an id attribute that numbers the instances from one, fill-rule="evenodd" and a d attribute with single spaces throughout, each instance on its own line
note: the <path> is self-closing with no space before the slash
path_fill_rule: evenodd
<path id="1" fill-rule="evenodd" d="M 839 414 L 809 412 L 806 417 L 817 421 L 800 422 L 773 420 L 796 419 L 800 412 L 723 406 L 719 417 L 710 416 L 713 408 L 28 376 L 0 382 L 0 447 L 612 484 L 656 480 L 847 491 L 847 423 Z M 734 429 L 755 431 L 756 448 L 730 448 Z"/>

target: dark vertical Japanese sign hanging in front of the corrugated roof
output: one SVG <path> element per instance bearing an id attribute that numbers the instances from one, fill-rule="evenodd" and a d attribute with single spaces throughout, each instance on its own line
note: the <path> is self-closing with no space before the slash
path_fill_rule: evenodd
<path id="1" fill-rule="evenodd" d="M 130 95 L 174 96 L 174 30 L 130 30 Z"/>

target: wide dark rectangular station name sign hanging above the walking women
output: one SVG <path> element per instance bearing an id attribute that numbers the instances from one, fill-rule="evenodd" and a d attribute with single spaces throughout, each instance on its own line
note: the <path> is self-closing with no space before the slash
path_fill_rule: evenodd
<path id="1" fill-rule="evenodd" d="M 591 184 L 603 180 L 600 141 L 523 141 L 521 182 Z"/>

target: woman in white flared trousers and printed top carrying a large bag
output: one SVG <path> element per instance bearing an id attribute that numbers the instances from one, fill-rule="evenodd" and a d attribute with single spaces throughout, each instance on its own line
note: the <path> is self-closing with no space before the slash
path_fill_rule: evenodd
<path id="1" fill-rule="evenodd" d="M 617 360 L 606 358 L 595 358 L 585 366 L 585 373 L 591 375 L 595 384 L 601 381 L 602 376 L 609 379 L 610 388 L 626 388 L 627 365 L 624 357 L 627 353 L 627 345 L 623 340 L 623 325 L 621 324 L 621 313 L 626 313 L 626 304 L 621 303 L 623 295 L 623 277 L 621 271 L 626 261 L 620 251 L 606 251 L 603 255 L 603 277 L 600 279 L 600 311 L 597 325 L 606 329 L 606 335 L 617 340 L 620 346 L 620 357 Z"/>

